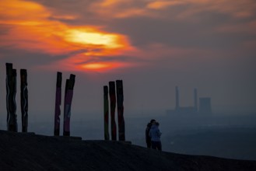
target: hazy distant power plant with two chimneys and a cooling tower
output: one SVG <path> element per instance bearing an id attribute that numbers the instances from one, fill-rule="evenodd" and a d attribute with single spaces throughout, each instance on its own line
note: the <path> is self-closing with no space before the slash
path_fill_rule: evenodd
<path id="1" fill-rule="evenodd" d="M 211 98 L 201 97 L 199 98 L 198 108 L 198 91 L 194 89 L 194 106 L 180 106 L 179 89 L 175 87 L 175 108 L 174 110 L 167 110 L 167 114 L 211 114 Z"/>

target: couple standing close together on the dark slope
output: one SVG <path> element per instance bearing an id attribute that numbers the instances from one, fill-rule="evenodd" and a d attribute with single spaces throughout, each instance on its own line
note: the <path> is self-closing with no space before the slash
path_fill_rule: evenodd
<path id="1" fill-rule="evenodd" d="M 159 129 L 159 123 L 156 120 L 150 120 L 146 127 L 146 145 L 147 148 L 153 148 L 162 151 L 160 136 L 162 132 Z"/>

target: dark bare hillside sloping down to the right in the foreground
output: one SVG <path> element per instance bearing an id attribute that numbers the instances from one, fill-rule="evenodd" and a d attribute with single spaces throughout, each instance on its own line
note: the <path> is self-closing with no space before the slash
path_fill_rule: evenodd
<path id="1" fill-rule="evenodd" d="M 121 141 L 0 131 L 0 170 L 256 170 L 256 161 L 158 152 Z"/>

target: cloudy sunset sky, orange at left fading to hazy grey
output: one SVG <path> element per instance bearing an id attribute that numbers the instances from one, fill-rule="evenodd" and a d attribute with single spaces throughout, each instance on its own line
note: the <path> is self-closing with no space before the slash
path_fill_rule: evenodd
<path id="1" fill-rule="evenodd" d="M 174 108 L 175 86 L 181 106 L 197 88 L 212 110 L 255 111 L 256 2 L 0 0 L 0 61 L 1 113 L 6 62 L 27 69 L 34 117 L 54 111 L 57 72 L 76 75 L 72 111 L 85 117 L 103 111 L 103 86 L 116 79 L 127 115 Z M 19 114 L 19 75 L 17 86 Z"/>

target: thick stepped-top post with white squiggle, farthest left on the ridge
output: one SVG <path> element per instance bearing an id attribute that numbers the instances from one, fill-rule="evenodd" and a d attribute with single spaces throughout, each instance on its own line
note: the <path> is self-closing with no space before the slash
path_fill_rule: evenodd
<path id="1" fill-rule="evenodd" d="M 7 130 L 18 131 L 16 116 L 16 69 L 12 69 L 11 63 L 6 63 L 6 109 Z"/>

